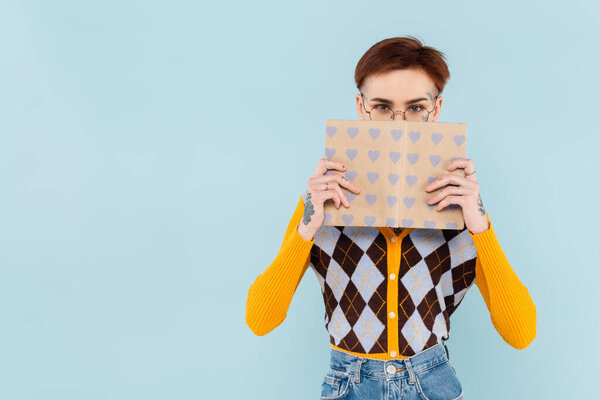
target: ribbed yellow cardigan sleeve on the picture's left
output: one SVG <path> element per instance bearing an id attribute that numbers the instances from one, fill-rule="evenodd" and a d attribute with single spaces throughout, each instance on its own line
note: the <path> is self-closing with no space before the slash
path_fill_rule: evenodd
<path id="1" fill-rule="evenodd" d="M 298 233 L 303 214 L 304 200 L 300 196 L 279 253 L 248 290 L 246 324 L 258 336 L 266 335 L 285 320 L 292 297 L 310 264 L 315 238 L 306 240 Z"/>

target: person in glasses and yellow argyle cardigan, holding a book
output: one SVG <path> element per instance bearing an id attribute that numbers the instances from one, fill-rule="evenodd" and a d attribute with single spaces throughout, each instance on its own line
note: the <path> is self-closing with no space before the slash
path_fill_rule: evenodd
<path id="1" fill-rule="evenodd" d="M 438 120 L 450 76 L 444 55 L 414 37 L 382 40 L 359 60 L 360 119 Z M 464 177 L 451 174 L 460 168 Z M 428 203 L 461 207 L 465 228 L 324 226 L 324 203 L 350 207 L 360 188 L 346 167 L 319 160 L 275 260 L 248 291 L 246 323 L 259 336 L 283 322 L 310 266 L 325 302 L 331 362 L 321 399 L 462 399 L 449 363 L 450 316 L 473 283 L 502 338 L 524 349 L 536 308 L 484 209 L 472 159 L 455 159 L 425 187 Z"/>

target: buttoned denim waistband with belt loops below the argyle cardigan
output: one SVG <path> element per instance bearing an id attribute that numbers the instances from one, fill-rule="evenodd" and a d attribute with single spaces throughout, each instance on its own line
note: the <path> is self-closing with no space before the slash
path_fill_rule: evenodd
<path id="1" fill-rule="evenodd" d="M 449 361 L 449 352 L 442 339 L 420 353 L 397 360 L 377 360 L 332 348 L 329 366 L 334 370 L 351 373 L 357 382 L 360 381 L 361 376 L 384 380 L 409 377 L 411 381 L 414 381 L 415 373 L 428 370 L 446 361 Z"/>

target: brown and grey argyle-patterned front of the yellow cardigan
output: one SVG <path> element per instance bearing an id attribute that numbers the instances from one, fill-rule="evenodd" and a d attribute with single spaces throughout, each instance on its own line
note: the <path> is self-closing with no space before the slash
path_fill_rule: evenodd
<path id="1" fill-rule="evenodd" d="M 390 279 L 387 241 L 377 227 L 319 228 L 310 266 L 321 286 L 332 344 L 388 353 L 388 333 L 395 329 L 400 354 L 408 357 L 450 337 L 450 316 L 475 282 L 477 252 L 467 228 L 413 229 L 399 246 L 398 276 Z M 394 319 L 388 318 L 389 285 L 397 285 Z"/>

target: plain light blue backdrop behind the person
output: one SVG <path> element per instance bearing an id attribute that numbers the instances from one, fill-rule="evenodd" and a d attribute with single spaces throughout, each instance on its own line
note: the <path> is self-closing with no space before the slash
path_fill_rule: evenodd
<path id="1" fill-rule="evenodd" d="M 597 2 L 2 1 L 0 398 L 316 399 L 312 270 L 246 326 L 353 75 L 413 35 L 451 72 L 467 155 L 537 307 L 524 350 L 474 286 L 452 317 L 465 399 L 597 396 Z"/>

